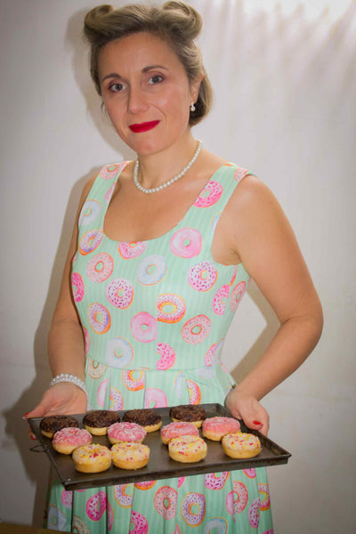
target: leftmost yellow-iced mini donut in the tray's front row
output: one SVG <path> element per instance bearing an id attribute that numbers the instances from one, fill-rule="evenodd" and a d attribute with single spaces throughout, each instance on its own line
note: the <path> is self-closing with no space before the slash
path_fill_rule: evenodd
<path id="1" fill-rule="evenodd" d="M 91 443 L 74 450 L 74 466 L 80 473 L 101 473 L 111 465 L 111 452 L 105 445 Z"/>

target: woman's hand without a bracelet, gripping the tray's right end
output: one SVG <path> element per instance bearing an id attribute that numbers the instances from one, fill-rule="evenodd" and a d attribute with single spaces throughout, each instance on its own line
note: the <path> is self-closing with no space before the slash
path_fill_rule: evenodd
<path id="1" fill-rule="evenodd" d="M 267 436 L 270 428 L 270 417 L 266 409 L 250 394 L 239 392 L 235 388 L 226 397 L 226 407 L 233 417 L 242 419 L 248 428 L 258 430 Z"/>

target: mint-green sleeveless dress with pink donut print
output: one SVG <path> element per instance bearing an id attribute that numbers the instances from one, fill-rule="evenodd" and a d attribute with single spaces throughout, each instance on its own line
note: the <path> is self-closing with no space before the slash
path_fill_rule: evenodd
<path id="1" fill-rule="evenodd" d="M 221 166 L 174 229 L 117 242 L 103 231 L 127 162 L 104 166 L 79 217 L 72 290 L 85 334 L 88 409 L 222 403 L 223 341 L 249 276 L 214 262 L 214 229 L 247 171 Z M 271 534 L 264 468 L 67 491 L 53 481 L 48 528 L 80 534 Z"/>

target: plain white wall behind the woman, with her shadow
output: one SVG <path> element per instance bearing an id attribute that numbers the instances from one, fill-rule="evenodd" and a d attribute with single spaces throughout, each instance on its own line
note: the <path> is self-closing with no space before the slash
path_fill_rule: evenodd
<path id="1" fill-rule="evenodd" d="M 93 0 L 1 0 L 0 517 L 41 524 L 47 460 L 20 416 L 48 383 L 45 338 L 86 179 L 132 154 L 101 121 L 80 31 Z M 117 1 L 117 5 L 123 4 Z M 277 534 L 352 534 L 355 477 L 356 3 L 192 0 L 214 111 L 205 146 L 258 174 L 295 228 L 325 312 L 324 335 L 264 400 Z M 243 376 L 276 320 L 251 286 L 225 347 Z"/>

